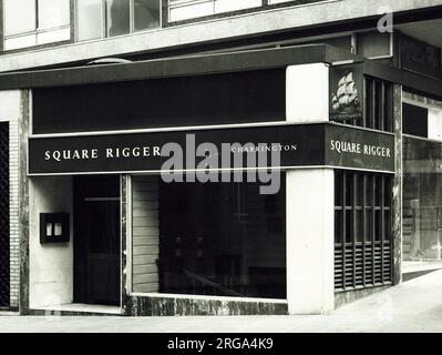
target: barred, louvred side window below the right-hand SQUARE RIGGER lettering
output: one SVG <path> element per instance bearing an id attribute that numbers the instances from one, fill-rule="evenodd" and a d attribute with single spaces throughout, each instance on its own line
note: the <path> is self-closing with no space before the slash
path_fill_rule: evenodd
<path id="1" fill-rule="evenodd" d="M 391 176 L 336 171 L 335 288 L 392 282 Z"/>

